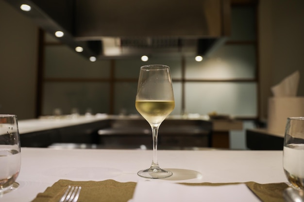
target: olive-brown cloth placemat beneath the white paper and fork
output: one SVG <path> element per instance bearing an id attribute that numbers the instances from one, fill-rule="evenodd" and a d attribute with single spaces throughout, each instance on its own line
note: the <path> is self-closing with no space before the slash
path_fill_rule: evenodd
<path id="1" fill-rule="evenodd" d="M 183 185 L 232 185 L 237 183 L 181 183 Z M 245 183 L 263 202 L 284 202 L 283 190 L 288 187 L 285 183 L 258 184 Z M 58 202 L 68 185 L 81 186 L 78 202 L 127 202 L 132 199 L 135 182 L 120 183 L 114 180 L 70 181 L 59 180 L 45 192 L 39 193 L 32 202 Z"/>

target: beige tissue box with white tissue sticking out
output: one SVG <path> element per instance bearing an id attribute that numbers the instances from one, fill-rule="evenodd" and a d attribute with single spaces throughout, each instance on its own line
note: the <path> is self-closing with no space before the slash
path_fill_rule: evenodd
<path id="1" fill-rule="evenodd" d="M 287 76 L 271 87 L 273 97 L 268 101 L 268 128 L 276 135 L 284 136 L 288 117 L 304 117 L 304 97 L 297 97 L 300 72 Z"/>

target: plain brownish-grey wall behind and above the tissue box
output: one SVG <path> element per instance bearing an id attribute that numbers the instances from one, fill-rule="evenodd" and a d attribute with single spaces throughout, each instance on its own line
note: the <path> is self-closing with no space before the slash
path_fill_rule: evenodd
<path id="1" fill-rule="evenodd" d="M 304 0 L 259 2 L 260 114 L 267 118 L 270 87 L 296 70 L 304 96 Z"/>

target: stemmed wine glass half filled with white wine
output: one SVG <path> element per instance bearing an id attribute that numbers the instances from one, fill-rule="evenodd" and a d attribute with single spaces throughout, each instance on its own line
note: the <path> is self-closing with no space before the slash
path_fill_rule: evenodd
<path id="1" fill-rule="evenodd" d="M 170 68 L 165 65 L 146 65 L 140 67 L 135 107 L 152 128 L 153 159 L 150 168 L 137 174 L 145 178 L 161 179 L 172 175 L 161 169 L 157 160 L 158 129 L 163 120 L 174 109 L 174 95 Z"/>

